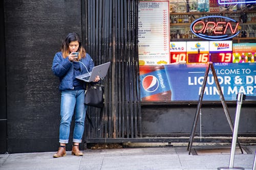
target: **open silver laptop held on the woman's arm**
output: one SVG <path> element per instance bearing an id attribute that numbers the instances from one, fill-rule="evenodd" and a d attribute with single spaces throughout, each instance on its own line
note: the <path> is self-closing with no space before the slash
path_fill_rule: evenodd
<path id="1" fill-rule="evenodd" d="M 95 80 L 96 76 L 99 76 L 100 79 L 104 78 L 108 73 L 109 67 L 110 67 L 110 62 L 100 64 L 93 67 L 93 70 L 91 72 L 76 76 L 76 78 L 85 82 L 92 82 Z"/>

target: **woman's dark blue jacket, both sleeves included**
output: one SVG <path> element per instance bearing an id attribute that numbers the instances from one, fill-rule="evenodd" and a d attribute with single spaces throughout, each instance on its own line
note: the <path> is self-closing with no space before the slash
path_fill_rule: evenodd
<path id="1" fill-rule="evenodd" d="M 81 59 L 81 62 L 87 67 L 88 71 L 92 71 L 94 67 L 93 60 L 89 54 L 86 53 L 86 57 Z M 81 74 L 86 74 L 88 71 L 83 66 L 82 63 L 79 63 L 81 68 Z M 74 77 L 74 66 L 73 62 L 69 61 L 68 57 L 65 59 L 62 57 L 62 52 L 55 54 L 53 63 L 52 63 L 53 74 L 59 77 L 59 90 L 72 90 L 73 87 L 73 77 Z M 86 83 L 84 82 L 84 87 Z"/>

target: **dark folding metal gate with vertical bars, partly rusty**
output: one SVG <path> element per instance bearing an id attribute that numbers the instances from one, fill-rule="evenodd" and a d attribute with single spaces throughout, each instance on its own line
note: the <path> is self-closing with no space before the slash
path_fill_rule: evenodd
<path id="1" fill-rule="evenodd" d="M 142 137 L 137 47 L 137 1 L 82 1 L 82 40 L 96 65 L 111 61 L 100 109 L 89 107 L 86 142 Z M 109 140 L 109 141 L 111 141 Z"/>

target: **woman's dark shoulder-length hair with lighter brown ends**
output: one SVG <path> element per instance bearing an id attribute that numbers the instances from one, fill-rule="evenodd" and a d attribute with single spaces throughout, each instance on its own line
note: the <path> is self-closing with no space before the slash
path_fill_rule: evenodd
<path id="1" fill-rule="evenodd" d="M 81 45 L 81 39 L 79 35 L 77 33 L 69 33 L 61 45 L 61 52 L 62 52 L 63 58 L 66 58 L 69 55 L 69 43 L 71 41 L 78 41 L 79 43 L 79 47 L 77 50 L 79 52 L 78 59 L 81 57 L 85 57 L 86 50 L 84 50 L 84 48 Z"/>

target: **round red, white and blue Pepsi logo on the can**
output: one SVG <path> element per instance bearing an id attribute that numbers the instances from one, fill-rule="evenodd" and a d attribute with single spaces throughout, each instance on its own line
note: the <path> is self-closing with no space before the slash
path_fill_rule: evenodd
<path id="1" fill-rule="evenodd" d="M 142 80 L 142 86 L 147 92 L 154 92 L 158 89 L 159 82 L 155 76 L 148 75 Z"/>

